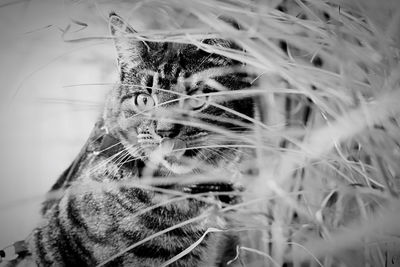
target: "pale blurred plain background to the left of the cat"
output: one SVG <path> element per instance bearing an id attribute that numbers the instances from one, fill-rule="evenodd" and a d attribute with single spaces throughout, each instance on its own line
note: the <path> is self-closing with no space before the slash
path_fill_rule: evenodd
<path id="1" fill-rule="evenodd" d="M 0 2 L 1 248 L 38 222 L 45 192 L 117 81 L 112 40 L 67 41 L 107 37 L 109 11 L 91 1 Z"/>

